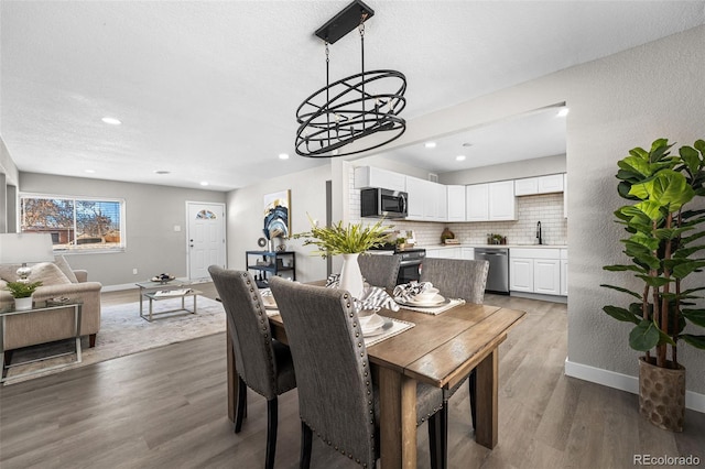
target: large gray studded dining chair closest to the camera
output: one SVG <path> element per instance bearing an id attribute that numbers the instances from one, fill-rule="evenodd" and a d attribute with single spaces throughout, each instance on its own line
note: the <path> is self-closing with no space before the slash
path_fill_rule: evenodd
<path id="1" fill-rule="evenodd" d="M 379 399 L 357 313 L 344 290 L 303 285 L 279 277 L 270 286 L 282 316 L 299 380 L 301 462 L 311 465 L 313 432 L 365 468 L 375 468 L 379 447 Z M 370 399 L 372 396 L 372 399 Z M 443 392 L 416 385 L 416 425 L 429 421 L 431 465 L 445 461 L 438 434 Z"/>

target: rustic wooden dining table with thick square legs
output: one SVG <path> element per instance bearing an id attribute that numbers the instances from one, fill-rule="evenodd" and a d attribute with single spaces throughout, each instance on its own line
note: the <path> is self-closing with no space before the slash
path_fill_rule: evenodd
<path id="1" fill-rule="evenodd" d="M 416 383 L 451 389 L 477 371 L 475 439 L 494 448 L 498 440 L 498 346 L 525 312 L 460 304 L 438 315 L 382 309 L 382 316 L 414 327 L 367 348 L 380 393 L 382 468 L 416 468 Z M 272 336 L 286 343 L 281 316 L 269 318 Z M 235 421 L 237 371 L 227 334 L 228 417 Z M 469 419 L 469 415 L 467 416 Z"/>

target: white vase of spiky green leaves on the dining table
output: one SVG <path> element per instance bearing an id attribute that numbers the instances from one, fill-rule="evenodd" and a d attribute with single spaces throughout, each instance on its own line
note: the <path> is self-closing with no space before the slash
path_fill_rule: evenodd
<path id="1" fill-rule="evenodd" d="M 375 225 L 348 223 L 343 226 L 338 221 L 329 227 L 318 227 L 308 217 L 311 231 L 296 233 L 294 239 L 304 239 L 304 246 L 313 244 L 318 248 L 314 254 L 327 258 L 343 254 L 343 268 L 340 270 L 340 288 L 347 290 L 354 297 L 360 297 L 364 283 L 357 258 L 365 251 L 381 246 L 388 241 L 388 230 L 392 227 L 382 225 L 380 219 Z"/>

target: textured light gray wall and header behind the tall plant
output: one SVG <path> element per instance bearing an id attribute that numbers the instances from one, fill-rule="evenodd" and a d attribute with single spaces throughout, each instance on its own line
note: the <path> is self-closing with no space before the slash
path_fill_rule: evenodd
<path id="1" fill-rule="evenodd" d="M 627 279 L 603 270 L 627 261 L 619 242 L 625 233 L 612 221 L 612 211 L 623 201 L 616 190 L 617 161 L 658 138 L 680 144 L 705 138 L 703 76 L 705 26 L 698 26 L 414 119 L 393 145 L 565 101 L 571 109 L 566 118 L 568 360 L 636 377 L 639 353 L 628 346 L 630 327 L 601 310 L 607 304 L 627 304 L 628 298 L 599 286 Z M 705 274 L 696 281 L 705 283 Z M 679 359 L 687 368 L 687 389 L 705 393 L 703 352 L 682 343 Z"/>

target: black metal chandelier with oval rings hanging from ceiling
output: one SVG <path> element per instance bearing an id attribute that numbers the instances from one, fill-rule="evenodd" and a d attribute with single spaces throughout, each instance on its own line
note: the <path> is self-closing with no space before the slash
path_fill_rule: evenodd
<path id="1" fill-rule="evenodd" d="M 397 70 L 365 70 L 365 21 L 375 12 L 355 0 L 316 31 L 325 42 L 326 86 L 296 109 L 296 153 L 308 157 L 347 156 L 377 149 L 399 139 L 406 122 L 399 113 L 406 106 L 406 77 Z M 352 29 L 360 32 L 361 72 L 330 83 L 328 44 Z M 345 146 L 376 133 L 367 145 Z"/>

